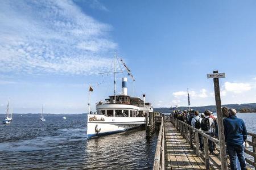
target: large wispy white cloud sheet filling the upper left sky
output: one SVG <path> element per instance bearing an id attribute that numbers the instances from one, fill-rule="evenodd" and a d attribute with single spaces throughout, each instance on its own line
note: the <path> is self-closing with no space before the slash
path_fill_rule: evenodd
<path id="1" fill-rule="evenodd" d="M 112 27 L 72 1 L 3 1 L 0 16 L 2 73 L 89 75 L 111 67 Z"/>

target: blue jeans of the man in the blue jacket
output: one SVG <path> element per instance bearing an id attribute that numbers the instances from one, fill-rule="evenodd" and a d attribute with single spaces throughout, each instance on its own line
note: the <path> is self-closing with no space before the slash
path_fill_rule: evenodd
<path id="1" fill-rule="evenodd" d="M 227 145 L 226 148 L 227 148 L 228 154 L 229 154 L 231 170 L 237 170 L 236 156 L 239 160 L 241 169 L 246 170 L 245 157 L 243 156 L 244 155 L 243 145 L 241 145 L 241 146 Z"/>

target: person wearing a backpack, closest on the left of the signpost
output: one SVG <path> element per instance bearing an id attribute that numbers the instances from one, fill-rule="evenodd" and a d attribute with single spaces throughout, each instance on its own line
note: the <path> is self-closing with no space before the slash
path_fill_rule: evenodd
<path id="1" fill-rule="evenodd" d="M 210 118 L 211 112 L 205 111 L 204 115 L 205 117 L 201 120 L 201 129 L 204 133 L 208 134 L 209 136 L 213 136 L 213 128 L 215 126 L 214 121 L 212 118 Z M 209 145 L 209 151 L 210 155 L 215 155 L 213 153 L 213 142 L 208 139 L 208 145 Z"/>

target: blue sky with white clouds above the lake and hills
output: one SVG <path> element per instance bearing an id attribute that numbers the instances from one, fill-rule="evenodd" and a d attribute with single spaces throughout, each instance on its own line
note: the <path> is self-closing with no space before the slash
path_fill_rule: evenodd
<path id="1" fill-rule="evenodd" d="M 0 113 L 88 112 L 113 95 L 114 54 L 128 94 L 154 107 L 256 103 L 256 1 L 3 1 Z M 125 70 L 117 63 L 118 70 Z M 134 88 L 133 88 L 134 87 Z"/>

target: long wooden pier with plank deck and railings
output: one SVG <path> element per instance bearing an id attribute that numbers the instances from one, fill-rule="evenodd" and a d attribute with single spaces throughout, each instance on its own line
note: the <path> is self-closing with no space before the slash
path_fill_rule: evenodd
<path id="1" fill-rule="evenodd" d="M 153 169 L 221 169 L 218 139 L 169 115 L 162 115 Z M 204 140 L 203 151 L 199 147 L 199 134 Z M 248 141 L 250 147 L 245 149 L 247 169 L 255 169 L 256 134 L 248 133 L 248 138 L 251 141 Z M 216 143 L 217 156 L 209 155 L 208 139 Z M 225 163 L 229 165 L 229 159 Z"/>

